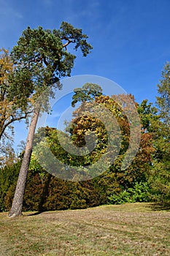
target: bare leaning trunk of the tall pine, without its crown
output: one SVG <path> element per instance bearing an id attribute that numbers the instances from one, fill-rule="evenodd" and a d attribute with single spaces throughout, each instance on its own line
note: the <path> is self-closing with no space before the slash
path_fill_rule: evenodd
<path id="1" fill-rule="evenodd" d="M 33 116 L 31 118 L 31 123 L 29 126 L 28 137 L 26 140 L 26 149 L 23 156 L 22 165 L 20 167 L 20 173 L 18 176 L 18 183 L 15 189 L 14 199 L 12 201 L 12 208 L 9 211 L 9 217 L 18 217 L 22 215 L 23 208 L 23 195 L 26 189 L 26 179 L 28 173 L 28 167 L 31 159 L 32 146 L 34 140 L 34 133 L 36 129 L 36 124 L 39 118 L 39 110 L 34 110 Z"/>

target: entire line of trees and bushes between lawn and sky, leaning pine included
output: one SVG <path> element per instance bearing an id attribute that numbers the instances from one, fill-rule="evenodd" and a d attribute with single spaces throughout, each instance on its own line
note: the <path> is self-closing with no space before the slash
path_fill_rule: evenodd
<path id="1" fill-rule="evenodd" d="M 80 48 L 82 56 L 87 56 L 92 50 L 87 39 L 88 36 L 82 34 L 82 29 L 75 29 L 71 24 L 63 22 L 60 29 L 53 31 L 42 27 L 28 27 L 11 53 L 1 49 L 0 210 L 9 211 L 9 217 L 22 214 L 22 209 L 46 211 L 85 208 L 104 203 L 151 200 L 166 204 L 170 202 L 169 64 L 163 69 L 155 104 L 147 99 L 139 104 L 133 95 L 105 96 L 99 85 L 87 83 L 82 85 L 82 89 L 74 90 L 72 105 L 80 102 L 80 107 L 75 109 L 72 125 L 66 127 L 66 134 L 53 127 L 46 127 L 39 129 L 34 138 L 39 113 L 49 110 L 48 100 L 53 97 L 51 86 L 55 84 L 56 88 L 62 89 L 61 78 L 71 75 L 76 56 L 71 53 L 72 48 L 69 46 L 74 45 L 74 50 Z M 37 102 L 44 91 L 47 91 L 45 100 Z M 141 120 L 139 150 L 125 170 L 121 170 L 121 165 L 131 132 L 128 118 L 117 104 L 117 97 L 122 102 L 127 102 L 130 98 Z M 45 133 L 47 144 L 55 157 L 68 166 L 79 167 L 80 173 L 82 166 L 83 171 L 86 171 L 85 167 L 98 161 L 107 150 L 108 134 L 104 124 L 95 117 L 79 115 L 82 108 L 91 110 L 93 102 L 109 109 L 119 124 L 122 141 L 115 162 L 101 175 L 90 180 L 87 178 L 86 181 L 63 181 L 52 176 L 39 165 L 32 154 L 33 142 L 38 145 L 42 132 Z M 18 162 L 14 163 L 12 124 L 21 119 L 28 121 L 30 116 L 26 148 L 20 154 Z M 96 135 L 96 147 L 85 156 L 69 154 L 58 141 L 58 135 L 61 135 L 82 148 L 89 130 Z M 117 140 L 115 135 L 115 143 Z"/>

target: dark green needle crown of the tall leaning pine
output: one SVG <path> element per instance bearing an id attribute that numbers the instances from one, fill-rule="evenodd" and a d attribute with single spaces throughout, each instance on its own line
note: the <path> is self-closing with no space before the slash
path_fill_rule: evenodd
<path id="1" fill-rule="evenodd" d="M 83 56 L 90 53 L 92 48 L 86 41 L 88 38 L 82 34 L 81 29 L 74 29 L 69 23 L 62 23 L 60 29 L 37 29 L 28 27 L 23 31 L 18 40 L 18 45 L 12 49 L 11 58 L 15 63 L 15 72 L 12 74 L 12 90 L 18 85 L 20 91 L 16 100 L 22 108 L 28 107 L 28 103 L 34 105 L 36 99 L 43 91 L 58 83 L 60 78 L 71 75 L 76 56 L 66 48 L 69 45 L 80 48 Z M 83 42 L 82 42 L 83 40 Z M 45 110 L 47 110 L 48 97 L 53 96 L 49 91 L 46 97 Z"/>

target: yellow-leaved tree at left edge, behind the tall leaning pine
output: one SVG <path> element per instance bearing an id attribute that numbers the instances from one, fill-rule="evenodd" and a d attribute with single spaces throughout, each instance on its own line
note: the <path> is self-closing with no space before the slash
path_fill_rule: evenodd
<path id="1" fill-rule="evenodd" d="M 10 83 L 15 65 L 8 50 L 2 48 L 0 51 L 0 166 L 3 166 L 12 164 L 15 159 L 12 148 L 14 135 L 12 124 L 26 118 L 29 111 L 15 100 L 20 94 L 20 91 L 17 91 L 18 85 L 13 86 Z"/>

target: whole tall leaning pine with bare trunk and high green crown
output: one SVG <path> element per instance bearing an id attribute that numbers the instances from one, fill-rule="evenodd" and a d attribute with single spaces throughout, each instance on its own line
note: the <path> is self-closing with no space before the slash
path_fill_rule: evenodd
<path id="1" fill-rule="evenodd" d="M 23 31 L 18 45 L 12 49 L 12 60 L 18 64 L 18 68 L 11 78 L 12 84 L 14 86 L 18 84 L 18 90 L 23 92 L 22 95 L 20 94 L 22 97 L 18 97 L 18 102 L 20 102 L 20 99 L 23 102 L 25 97 L 27 104 L 29 99 L 33 107 L 33 115 L 9 217 L 22 214 L 23 195 L 36 123 L 40 110 L 42 108 L 47 110 L 48 101 L 41 102 L 40 105 L 34 103 L 42 92 L 54 83 L 58 89 L 61 89 L 61 84 L 58 81 L 64 76 L 71 75 L 74 59 L 76 58 L 75 55 L 67 51 L 67 48 L 72 44 L 74 50 L 80 48 L 82 55 L 87 56 L 92 49 L 86 40 L 87 38 L 86 34 L 82 34 L 82 29 L 74 29 L 71 24 L 66 22 L 61 23 L 60 29 L 54 29 L 53 31 L 42 29 L 42 27 L 38 29 L 28 27 Z M 47 98 L 50 94 L 47 95 Z"/>

